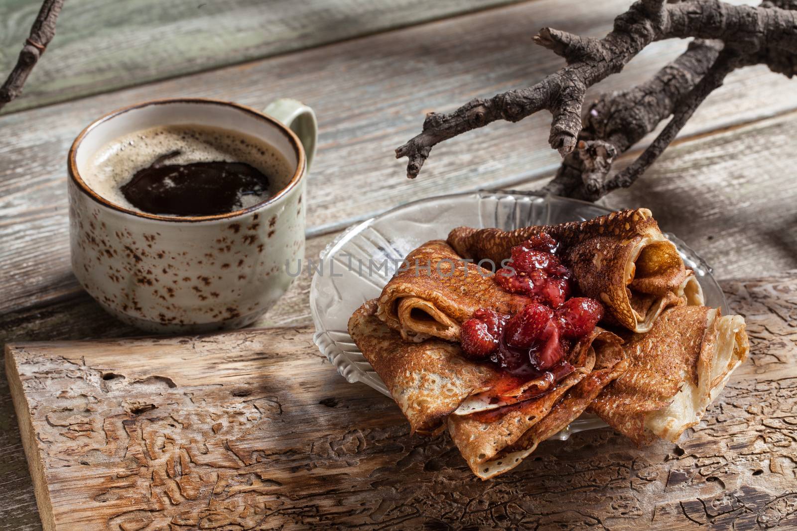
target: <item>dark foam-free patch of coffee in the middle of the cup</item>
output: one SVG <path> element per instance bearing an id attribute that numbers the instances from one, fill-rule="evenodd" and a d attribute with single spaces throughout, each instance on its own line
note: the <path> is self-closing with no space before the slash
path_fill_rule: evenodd
<path id="1" fill-rule="evenodd" d="M 212 216 L 243 207 L 243 197 L 268 197 L 269 178 L 245 162 L 168 164 L 172 151 L 138 170 L 122 185 L 124 198 L 143 212 Z"/>

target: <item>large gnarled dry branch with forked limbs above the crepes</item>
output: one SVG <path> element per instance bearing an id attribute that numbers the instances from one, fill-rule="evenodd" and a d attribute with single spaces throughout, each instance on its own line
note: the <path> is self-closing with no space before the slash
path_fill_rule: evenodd
<path id="1" fill-rule="evenodd" d="M 414 178 L 436 144 L 498 119 L 516 122 L 545 109 L 553 115 L 549 142 L 564 160 L 544 189 L 595 201 L 634 182 L 735 68 L 768 64 L 791 77 L 797 67 L 795 6 L 797 0 L 769 0 L 760 7 L 641 0 L 618 16 L 602 39 L 544 28 L 535 42 L 564 57 L 567 66 L 530 88 L 471 100 L 450 114 L 427 115 L 422 132 L 400 146 L 396 157 L 409 158 L 407 177 Z M 581 119 L 588 87 L 622 70 L 651 42 L 672 37 L 697 38 L 654 78 L 602 96 Z M 669 115 L 673 119 L 638 161 L 608 178 L 614 158 Z"/>

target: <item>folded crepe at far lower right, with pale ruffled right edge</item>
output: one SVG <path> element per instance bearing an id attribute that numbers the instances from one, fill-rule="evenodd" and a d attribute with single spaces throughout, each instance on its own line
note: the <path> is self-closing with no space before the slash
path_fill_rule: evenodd
<path id="1" fill-rule="evenodd" d="M 663 311 L 646 334 L 622 346 L 628 371 L 598 396 L 591 411 L 634 443 L 677 441 L 700 422 L 750 346 L 744 318 L 707 306 Z"/>

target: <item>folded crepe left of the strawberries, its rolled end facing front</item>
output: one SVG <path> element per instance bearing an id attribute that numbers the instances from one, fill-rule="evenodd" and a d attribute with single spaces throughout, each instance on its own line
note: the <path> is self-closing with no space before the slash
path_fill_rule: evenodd
<path id="1" fill-rule="evenodd" d="M 515 314 L 532 302 L 504 291 L 492 273 L 462 261 L 446 242 L 426 242 L 406 257 L 379 295 L 377 315 L 406 341 L 459 340 L 459 330 L 479 308 Z"/>

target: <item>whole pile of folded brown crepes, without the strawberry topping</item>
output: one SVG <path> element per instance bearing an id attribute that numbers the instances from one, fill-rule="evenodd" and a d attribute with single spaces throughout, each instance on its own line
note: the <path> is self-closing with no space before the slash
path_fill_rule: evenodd
<path id="1" fill-rule="evenodd" d="M 458 338 L 479 308 L 515 314 L 532 302 L 477 264 L 501 264 L 540 232 L 559 240 L 579 291 L 601 301 L 606 317 L 568 354 L 571 373 L 522 381 L 464 357 Z M 693 272 L 650 211 L 636 209 L 512 232 L 455 228 L 447 241 L 411 252 L 348 328 L 410 428 L 448 428 L 474 474 L 487 479 L 583 412 L 635 443 L 676 440 L 697 424 L 749 349 L 743 318 L 702 303 Z"/>

